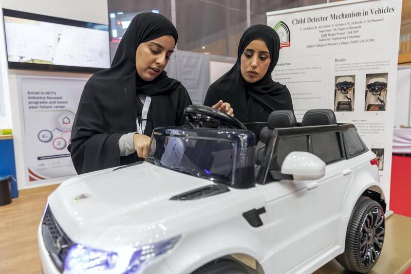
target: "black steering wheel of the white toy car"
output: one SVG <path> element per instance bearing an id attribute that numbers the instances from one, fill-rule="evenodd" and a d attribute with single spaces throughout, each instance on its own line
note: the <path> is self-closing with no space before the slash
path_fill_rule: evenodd
<path id="1" fill-rule="evenodd" d="M 193 127 L 220 127 L 228 126 L 231 129 L 242 129 L 246 130 L 246 126 L 240 121 L 214 109 L 210 106 L 205 105 L 189 105 L 184 108 L 183 112 L 185 119 Z"/>

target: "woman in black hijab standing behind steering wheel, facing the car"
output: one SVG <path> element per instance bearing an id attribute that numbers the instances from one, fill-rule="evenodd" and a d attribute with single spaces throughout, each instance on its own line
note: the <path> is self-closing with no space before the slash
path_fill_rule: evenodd
<path id="1" fill-rule="evenodd" d="M 278 34 L 266 25 L 254 25 L 242 34 L 237 62 L 208 89 L 204 105 L 229 102 L 242 123 L 266 122 L 272 111 L 293 111 L 288 88 L 271 79 L 278 61 Z M 221 102 L 221 101 L 220 101 Z"/>

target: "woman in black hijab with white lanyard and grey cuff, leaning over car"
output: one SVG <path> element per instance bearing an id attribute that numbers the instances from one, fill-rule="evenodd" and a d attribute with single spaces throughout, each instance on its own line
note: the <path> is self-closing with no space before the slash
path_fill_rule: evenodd
<path id="1" fill-rule="evenodd" d="M 177 38 L 164 16 L 140 13 L 124 33 L 111 67 L 87 81 L 68 147 L 78 174 L 141 160 L 155 127 L 184 123 L 190 96 L 163 70 Z"/>

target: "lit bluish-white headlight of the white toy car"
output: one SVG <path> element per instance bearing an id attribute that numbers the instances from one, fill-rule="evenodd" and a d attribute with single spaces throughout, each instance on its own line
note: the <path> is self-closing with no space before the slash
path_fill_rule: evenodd
<path id="1" fill-rule="evenodd" d="M 171 250 L 181 236 L 136 248 L 105 251 L 73 245 L 67 252 L 64 273 L 137 273 L 141 265 Z"/>

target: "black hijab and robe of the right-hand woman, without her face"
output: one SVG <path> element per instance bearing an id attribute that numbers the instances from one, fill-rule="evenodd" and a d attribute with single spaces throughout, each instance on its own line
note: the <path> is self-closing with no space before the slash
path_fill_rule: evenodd
<path id="1" fill-rule="evenodd" d="M 248 83 L 241 75 L 241 54 L 247 45 L 255 39 L 262 39 L 267 44 L 271 63 L 263 78 L 255 83 Z M 279 37 L 274 29 L 266 25 L 249 27 L 241 36 L 236 63 L 209 87 L 204 105 L 212 106 L 220 99 L 229 102 L 234 109 L 235 118 L 243 123 L 267 121 L 268 116 L 261 115 L 261 112 L 254 109 L 255 107 L 264 108 L 263 112 L 268 114 L 279 109 L 293 111 L 289 90 L 285 85 L 274 82 L 271 78 L 271 73 L 278 61 L 278 55 Z M 252 100 L 251 103 L 249 99 Z"/>

